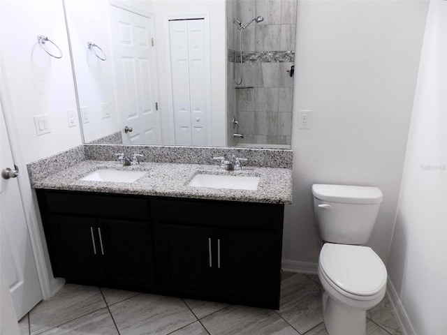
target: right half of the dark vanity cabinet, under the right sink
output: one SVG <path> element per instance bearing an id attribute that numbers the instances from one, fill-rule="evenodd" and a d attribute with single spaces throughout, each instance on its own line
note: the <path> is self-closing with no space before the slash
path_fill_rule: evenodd
<path id="1" fill-rule="evenodd" d="M 152 213 L 163 292 L 279 308 L 284 205 L 156 198 Z"/>

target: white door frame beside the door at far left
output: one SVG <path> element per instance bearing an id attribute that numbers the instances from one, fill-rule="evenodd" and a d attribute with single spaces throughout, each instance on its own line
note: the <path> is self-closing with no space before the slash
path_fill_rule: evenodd
<path id="1" fill-rule="evenodd" d="M 54 292 L 57 292 L 65 283 L 64 279 L 52 278 L 50 259 L 47 257 L 47 246 L 43 231 L 41 230 L 41 218 L 38 214 L 38 204 L 35 191 L 31 189 L 27 173 L 27 163 L 24 161 L 18 146 L 18 132 L 15 119 L 13 117 L 13 105 L 10 102 L 8 85 L 3 65 L 3 58 L 0 50 L 0 103 L 5 118 L 6 130 L 10 141 L 10 149 L 13 154 L 15 165 L 22 173 L 17 176 L 20 189 L 20 198 L 24 209 L 31 247 L 33 249 L 34 261 L 36 262 L 37 274 L 41 285 L 43 299 L 48 299 Z"/>

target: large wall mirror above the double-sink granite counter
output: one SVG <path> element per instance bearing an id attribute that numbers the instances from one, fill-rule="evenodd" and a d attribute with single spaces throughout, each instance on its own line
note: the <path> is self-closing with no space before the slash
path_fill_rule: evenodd
<path id="1" fill-rule="evenodd" d="M 64 0 L 86 143 L 290 148 L 296 0 Z"/>

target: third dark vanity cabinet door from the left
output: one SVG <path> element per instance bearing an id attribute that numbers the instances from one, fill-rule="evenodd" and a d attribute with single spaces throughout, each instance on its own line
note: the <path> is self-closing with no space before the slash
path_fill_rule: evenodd
<path id="1" fill-rule="evenodd" d="M 184 225 L 156 225 L 156 263 L 164 292 L 210 297 L 214 295 L 212 230 Z"/>

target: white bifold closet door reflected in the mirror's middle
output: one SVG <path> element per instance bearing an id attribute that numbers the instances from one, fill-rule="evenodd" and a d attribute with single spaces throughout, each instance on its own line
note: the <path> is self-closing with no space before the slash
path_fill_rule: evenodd
<path id="1" fill-rule="evenodd" d="M 175 144 L 207 145 L 205 20 L 170 20 Z"/>

